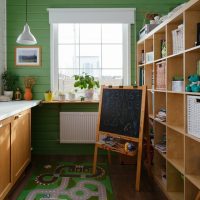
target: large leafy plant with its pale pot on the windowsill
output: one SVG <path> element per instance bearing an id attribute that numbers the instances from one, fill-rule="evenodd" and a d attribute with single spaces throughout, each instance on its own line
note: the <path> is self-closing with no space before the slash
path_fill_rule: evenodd
<path id="1" fill-rule="evenodd" d="M 85 72 L 82 75 L 74 75 L 75 83 L 74 87 L 79 87 L 80 89 L 85 89 L 85 97 L 87 99 L 92 99 L 94 94 L 94 88 L 99 88 L 99 81 L 94 79 Z"/>

